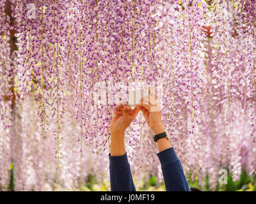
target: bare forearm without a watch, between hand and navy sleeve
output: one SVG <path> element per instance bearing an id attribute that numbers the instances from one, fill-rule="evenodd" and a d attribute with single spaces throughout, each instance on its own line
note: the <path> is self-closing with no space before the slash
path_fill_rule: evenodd
<path id="1" fill-rule="evenodd" d="M 111 131 L 111 156 L 122 156 L 125 154 L 124 133 Z"/>

